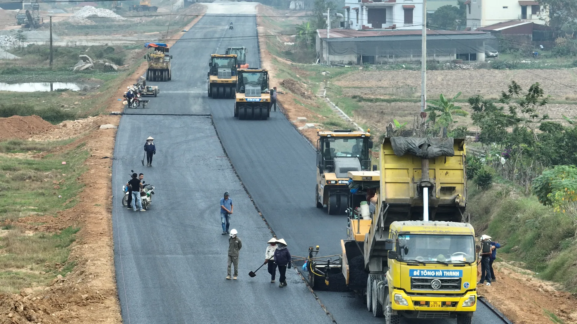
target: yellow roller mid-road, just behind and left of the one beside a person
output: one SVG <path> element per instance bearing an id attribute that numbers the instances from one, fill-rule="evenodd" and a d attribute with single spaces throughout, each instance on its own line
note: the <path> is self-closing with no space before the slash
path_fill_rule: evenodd
<path id="1" fill-rule="evenodd" d="M 237 87 L 237 54 L 211 54 L 208 67 L 208 96 L 213 99 L 234 98 Z"/>

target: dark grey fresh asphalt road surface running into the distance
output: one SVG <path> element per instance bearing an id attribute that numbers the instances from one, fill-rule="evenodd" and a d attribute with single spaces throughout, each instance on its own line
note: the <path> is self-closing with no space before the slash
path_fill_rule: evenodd
<path id="1" fill-rule="evenodd" d="M 233 31 L 227 29 L 230 20 Z M 248 47 L 247 62 L 258 66 L 254 16 L 203 17 L 171 48 L 172 81 L 149 82 L 160 86 L 159 97 L 146 109 L 127 109 L 130 115 L 121 119 L 113 165 L 113 226 L 125 323 L 331 322 L 293 269 L 282 289 L 268 282 L 264 267 L 255 278 L 247 275 L 264 261 L 271 234 L 219 138 L 242 184 L 291 254 L 305 256 L 316 245 L 323 255 L 339 253 L 346 218 L 315 208 L 314 149 L 284 115 L 238 120 L 233 100 L 207 97 L 209 55 L 229 46 Z M 151 168 L 140 162 L 149 135 L 157 148 Z M 121 205 L 130 169 L 155 185 L 147 212 Z M 238 229 L 243 242 L 238 281 L 224 280 L 228 237 L 220 235 L 218 202 L 224 191 L 234 201 L 231 228 Z M 351 293 L 318 295 L 339 324 L 383 323 Z M 500 323 L 482 305 L 477 309 L 475 324 Z"/>

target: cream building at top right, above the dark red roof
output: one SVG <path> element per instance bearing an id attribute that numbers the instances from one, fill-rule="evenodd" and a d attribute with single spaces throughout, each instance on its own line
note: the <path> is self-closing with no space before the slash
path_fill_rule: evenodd
<path id="1" fill-rule="evenodd" d="M 467 0 L 465 4 L 467 27 L 473 31 L 503 21 L 530 21 L 541 25 L 548 21 L 548 13 L 538 1 Z"/>

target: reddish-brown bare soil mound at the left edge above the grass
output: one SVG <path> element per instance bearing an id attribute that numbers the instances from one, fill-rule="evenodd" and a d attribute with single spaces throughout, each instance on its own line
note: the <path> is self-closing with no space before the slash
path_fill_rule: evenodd
<path id="1" fill-rule="evenodd" d="M 39 116 L 12 116 L 0 118 L 0 140 L 18 138 L 25 140 L 31 135 L 46 133 L 54 129 L 54 125 Z"/>

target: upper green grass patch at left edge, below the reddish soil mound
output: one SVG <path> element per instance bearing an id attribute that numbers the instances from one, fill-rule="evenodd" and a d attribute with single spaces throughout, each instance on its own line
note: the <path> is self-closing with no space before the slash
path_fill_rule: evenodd
<path id="1" fill-rule="evenodd" d="M 35 149 L 47 150 L 64 143 L 51 142 Z M 20 151 L 30 148 L 27 145 L 23 142 L 18 147 L 18 142 L 8 141 L 0 143 L 0 148 Z M 79 148 L 48 154 L 42 159 L 0 156 L 0 224 L 6 219 L 14 221 L 31 213 L 55 215 L 64 208 L 66 201 L 66 208 L 74 206 L 75 197 L 83 188 L 76 178 L 86 170 L 83 163 L 87 157 L 88 152 Z M 61 164 L 62 161 L 66 164 Z"/>

